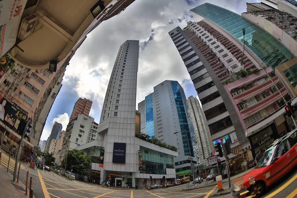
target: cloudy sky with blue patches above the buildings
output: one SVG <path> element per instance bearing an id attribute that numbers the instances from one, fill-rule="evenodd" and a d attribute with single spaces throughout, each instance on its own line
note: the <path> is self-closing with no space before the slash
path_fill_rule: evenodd
<path id="1" fill-rule="evenodd" d="M 102 22 L 70 60 L 63 86 L 49 112 L 41 140 L 47 140 L 54 121 L 63 130 L 77 99 L 93 100 L 90 116 L 99 122 L 110 73 L 118 49 L 126 40 L 140 41 L 137 104 L 164 80 L 176 80 L 186 97 L 197 96 L 190 75 L 168 32 L 193 20 L 190 9 L 210 2 L 241 14 L 246 2 L 257 0 L 135 0 L 125 11 Z M 153 79 L 153 80 L 152 80 Z M 136 104 L 136 106 L 137 106 Z M 137 107 L 136 107 L 137 108 Z"/>

